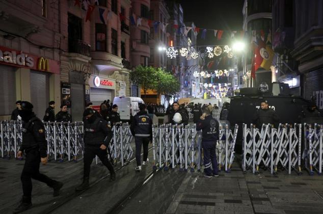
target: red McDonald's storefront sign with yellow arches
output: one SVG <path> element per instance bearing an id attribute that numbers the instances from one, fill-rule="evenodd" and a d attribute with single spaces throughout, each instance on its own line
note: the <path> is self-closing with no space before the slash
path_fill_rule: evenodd
<path id="1" fill-rule="evenodd" d="M 60 63 L 22 51 L 0 46 L 0 64 L 60 74 Z"/>

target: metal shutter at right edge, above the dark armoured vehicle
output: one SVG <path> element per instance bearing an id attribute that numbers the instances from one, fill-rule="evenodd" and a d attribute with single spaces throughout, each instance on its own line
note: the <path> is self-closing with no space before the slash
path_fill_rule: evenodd
<path id="1" fill-rule="evenodd" d="M 323 68 L 306 74 L 305 99 L 314 96 L 320 113 L 323 114 Z"/>

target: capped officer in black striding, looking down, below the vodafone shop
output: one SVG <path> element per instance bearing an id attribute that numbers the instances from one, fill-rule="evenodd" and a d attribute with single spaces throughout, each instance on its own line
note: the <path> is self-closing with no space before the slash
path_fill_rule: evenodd
<path id="1" fill-rule="evenodd" d="M 107 159 L 106 147 L 109 145 L 107 141 L 104 141 L 104 138 L 108 133 L 107 122 L 102 118 L 97 117 L 92 109 L 86 109 L 83 116 L 86 118 L 84 123 L 84 176 L 83 183 L 76 187 L 76 191 L 82 191 L 89 188 L 90 167 L 95 155 L 97 155 L 102 164 L 109 169 L 110 180 L 116 180 L 116 173 Z"/>

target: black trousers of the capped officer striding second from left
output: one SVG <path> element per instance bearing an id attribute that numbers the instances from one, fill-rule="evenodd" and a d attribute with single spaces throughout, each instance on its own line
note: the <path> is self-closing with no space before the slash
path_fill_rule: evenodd
<path id="1" fill-rule="evenodd" d="M 107 152 L 105 150 L 100 149 L 101 145 L 85 145 L 85 154 L 84 154 L 84 177 L 90 176 L 90 169 L 93 158 L 97 155 L 101 160 L 102 164 L 109 169 L 111 174 L 114 174 L 115 171 L 113 169 L 112 164 L 107 159 Z"/>

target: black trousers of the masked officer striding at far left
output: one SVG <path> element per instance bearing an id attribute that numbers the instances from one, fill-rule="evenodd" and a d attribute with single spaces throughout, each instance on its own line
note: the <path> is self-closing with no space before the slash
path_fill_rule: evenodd
<path id="1" fill-rule="evenodd" d="M 31 200 L 33 190 L 32 179 L 43 182 L 49 187 L 52 187 L 55 181 L 39 172 L 40 152 L 37 147 L 25 150 L 25 158 L 21 173 L 22 190 L 23 196 Z"/>

